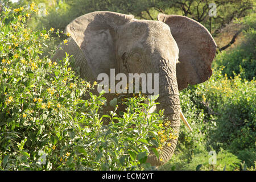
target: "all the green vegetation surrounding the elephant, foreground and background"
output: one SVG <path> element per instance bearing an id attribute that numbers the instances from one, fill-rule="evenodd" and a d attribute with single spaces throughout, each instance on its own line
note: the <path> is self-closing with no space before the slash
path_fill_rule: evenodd
<path id="1" fill-rule="evenodd" d="M 217 16 L 212 18 L 208 1 L 35 2 L 6 1 L 1 7 L 0 169 L 150 169 L 145 163 L 149 148 L 158 155 L 166 135 L 175 137 L 171 130 L 162 130 L 168 124 L 162 111 L 144 119 L 142 108 L 148 110 L 156 103 L 143 104 L 146 98 L 141 95 L 119 96 L 126 101 L 126 112 L 116 113 L 115 106 L 112 113 L 100 117 L 104 93 L 81 100 L 97 82 L 77 77 L 69 67 L 69 55 L 60 63 L 49 60 L 52 52 L 47 51 L 65 43 L 67 35 L 61 31 L 72 19 L 109 10 L 141 19 L 156 19 L 159 12 L 187 15 L 216 38 L 226 24 L 239 27 L 241 43 L 233 46 L 230 40 L 236 37 L 226 38 L 222 43 L 226 46 L 218 49 L 214 59 L 212 77 L 180 92 L 181 107 L 193 131 L 181 124 L 175 155 L 160 169 L 255 170 L 253 1 L 216 1 Z M 38 9 L 40 2 L 48 13 Z M 110 125 L 102 124 L 104 118 Z M 216 152 L 217 164 L 209 163 L 210 151 Z"/>

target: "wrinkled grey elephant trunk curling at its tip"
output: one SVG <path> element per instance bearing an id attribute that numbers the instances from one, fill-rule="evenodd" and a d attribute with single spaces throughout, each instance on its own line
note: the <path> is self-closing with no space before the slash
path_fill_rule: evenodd
<path id="1" fill-rule="evenodd" d="M 164 115 L 167 120 L 170 121 L 169 125 L 164 127 L 171 127 L 172 132 L 178 137 L 180 127 L 180 100 L 179 89 L 176 79 L 176 65 L 170 63 L 170 61 L 160 60 L 159 62 L 159 98 L 160 102 L 157 109 L 164 109 Z M 168 141 L 168 145 L 163 146 L 159 151 L 159 159 L 154 155 L 148 156 L 147 162 L 152 166 L 161 166 L 167 163 L 174 154 L 177 137 L 171 138 Z"/>

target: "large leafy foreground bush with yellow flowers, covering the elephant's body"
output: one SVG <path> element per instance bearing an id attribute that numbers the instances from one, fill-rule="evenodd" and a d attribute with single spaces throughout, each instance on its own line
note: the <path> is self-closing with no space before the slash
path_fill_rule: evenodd
<path id="1" fill-rule="evenodd" d="M 164 144 L 159 144 L 163 112 L 144 119 L 156 98 L 148 105 L 144 97 L 127 98 L 121 116 L 115 107 L 101 117 L 104 93 L 90 93 L 96 82 L 78 78 L 68 55 L 59 63 L 39 57 L 53 28 L 39 32 L 26 27 L 28 16 L 37 11 L 33 3 L 2 11 L 0 169 L 150 169 L 145 163 L 150 148 L 158 155 Z M 81 100 L 86 93 L 90 99 Z M 109 125 L 103 125 L 103 118 Z"/>

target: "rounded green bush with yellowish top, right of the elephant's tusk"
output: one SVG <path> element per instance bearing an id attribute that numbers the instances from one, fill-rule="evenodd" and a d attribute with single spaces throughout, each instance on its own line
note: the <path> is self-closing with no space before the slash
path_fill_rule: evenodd
<path id="1" fill-rule="evenodd" d="M 192 90 L 191 100 L 204 110 L 205 117 L 197 127 L 207 135 L 207 146 L 217 151 L 222 147 L 235 155 L 255 150 L 255 80 L 242 80 L 240 75 L 229 80 L 221 69 L 215 69 L 207 82 Z M 240 152 L 238 156 L 249 166 L 256 160 L 255 155 L 247 158 Z"/>

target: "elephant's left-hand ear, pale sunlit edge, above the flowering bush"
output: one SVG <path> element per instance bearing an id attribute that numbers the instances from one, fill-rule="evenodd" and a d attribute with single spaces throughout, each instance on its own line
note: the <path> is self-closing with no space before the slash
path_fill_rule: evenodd
<path id="1" fill-rule="evenodd" d="M 133 15 L 96 11 L 76 18 L 65 29 L 81 49 L 94 77 L 115 68 L 114 36 L 118 26 L 130 22 Z"/>

